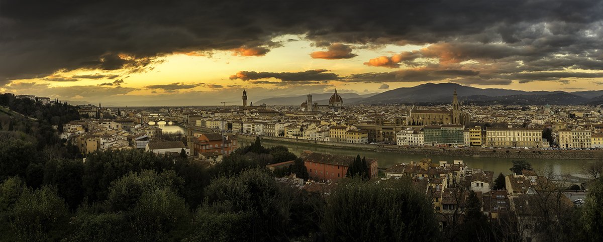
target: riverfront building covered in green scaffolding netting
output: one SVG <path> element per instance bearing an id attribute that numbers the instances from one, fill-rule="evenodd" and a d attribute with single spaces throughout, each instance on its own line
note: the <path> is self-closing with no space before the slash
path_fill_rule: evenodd
<path id="1" fill-rule="evenodd" d="M 462 146 L 464 144 L 463 125 L 430 125 L 423 128 L 425 145 Z"/>

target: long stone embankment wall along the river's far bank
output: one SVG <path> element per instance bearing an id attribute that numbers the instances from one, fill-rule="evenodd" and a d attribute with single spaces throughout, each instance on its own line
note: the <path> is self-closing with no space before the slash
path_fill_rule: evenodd
<path id="1" fill-rule="evenodd" d="M 243 140 L 254 140 L 256 135 L 238 134 Z M 369 150 L 404 155 L 441 155 L 447 157 L 484 157 L 504 159 L 542 159 L 542 160 L 593 160 L 601 150 L 540 150 L 540 149 L 464 149 L 454 147 L 403 147 L 383 144 L 352 144 L 329 141 L 300 140 L 285 137 L 260 136 L 262 140 L 309 144 L 317 147 Z"/>

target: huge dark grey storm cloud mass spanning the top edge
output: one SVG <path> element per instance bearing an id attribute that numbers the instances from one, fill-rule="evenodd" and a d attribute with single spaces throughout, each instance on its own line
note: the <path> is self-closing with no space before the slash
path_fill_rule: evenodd
<path id="1" fill-rule="evenodd" d="M 599 1 L 7 0 L 0 4 L 3 82 L 78 68 L 139 72 L 173 52 L 264 55 L 278 46 L 271 39 L 282 34 L 305 34 L 316 46 L 504 43 L 502 50 L 527 51 L 529 55 L 519 59 L 526 64 L 551 54 L 590 56 L 603 45 L 599 28 L 603 2 Z M 480 54 L 479 49 L 466 51 L 448 60 Z M 514 55 L 496 49 L 491 53 L 500 55 L 490 58 Z M 598 59 L 578 64 L 600 68 L 601 53 L 594 55 Z"/>

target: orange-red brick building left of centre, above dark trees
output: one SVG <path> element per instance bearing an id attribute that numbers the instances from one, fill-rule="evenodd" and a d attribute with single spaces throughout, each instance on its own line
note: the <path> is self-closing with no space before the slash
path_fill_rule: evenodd
<path id="1" fill-rule="evenodd" d="M 211 151 L 230 155 L 236 150 L 237 143 L 237 139 L 233 138 L 232 135 L 218 133 L 201 134 L 193 143 L 194 155 Z"/>

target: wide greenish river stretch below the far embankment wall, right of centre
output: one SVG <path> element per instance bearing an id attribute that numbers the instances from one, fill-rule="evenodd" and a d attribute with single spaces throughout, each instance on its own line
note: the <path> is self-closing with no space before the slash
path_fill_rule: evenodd
<path id="1" fill-rule="evenodd" d="M 239 144 L 241 146 L 248 145 L 250 143 L 249 140 L 239 140 Z M 262 140 L 262 146 L 272 147 L 276 145 L 282 145 L 288 147 L 288 149 L 293 152 L 295 155 L 301 154 L 304 150 L 311 150 L 314 152 L 333 154 L 333 155 L 350 155 L 356 156 L 360 155 L 361 157 L 371 157 L 376 158 L 379 163 L 379 168 L 387 168 L 393 166 L 394 164 L 399 163 L 409 163 L 410 161 L 420 161 L 422 158 L 429 158 L 432 162 L 438 163 L 438 161 L 443 160 L 448 163 L 452 163 L 453 160 L 463 160 L 464 164 L 471 168 L 483 169 L 493 171 L 495 176 L 499 172 L 503 174 L 511 173 L 509 168 L 513 166 L 513 159 L 506 158 L 486 158 L 486 157 L 450 157 L 450 156 L 440 156 L 440 155 L 406 155 L 406 154 L 397 154 L 391 152 L 374 152 L 368 150 L 353 150 L 353 149 L 342 149 L 339 147 L 321 147 L 314 146 L 312 144 L 305 143 L 281 143 L 279 141 L 273 140 Z M 534 170 L 537 171 L 552 171 L 557 175 L 571 175 L 573 179 L 585 178 L 582 175 L 582 166 L 584 163 L 589 162 L 589 160 L 551 160 L 551 159 L 525 159 L 532 164 Z M 576 181 L 578 182 L 578 181 Z"/>

